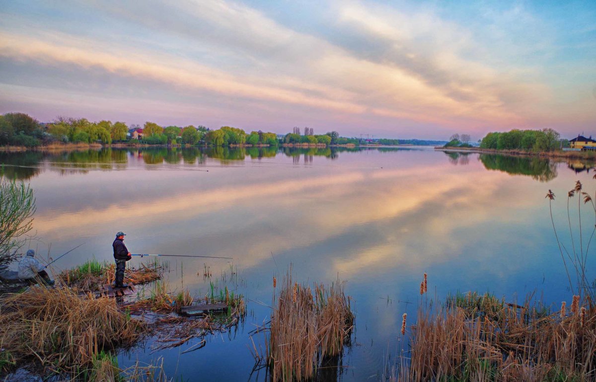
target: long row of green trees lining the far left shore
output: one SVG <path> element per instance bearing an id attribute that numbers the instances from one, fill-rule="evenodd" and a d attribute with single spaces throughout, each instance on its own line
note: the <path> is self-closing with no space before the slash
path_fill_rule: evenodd
<path id="1" fill-rule="evenodd" d="M 6 113 L 0 116 L 0 151 L 80 150 L 99 147 L 357 147 L 436 145 L 444 141 L 423 139 L 347 138 L 337 131 L 315 135 L 312 128 L 304 133 L 294 127 L 293 132 L 278 135 L 272 132 L 251 131 L 231 126 L 209 129 L 205 126 L 160 126 L 154 122 L 126 125 L 124 122 L 59 116 L 52 122 L 40 123 L 25 113 Z"/>

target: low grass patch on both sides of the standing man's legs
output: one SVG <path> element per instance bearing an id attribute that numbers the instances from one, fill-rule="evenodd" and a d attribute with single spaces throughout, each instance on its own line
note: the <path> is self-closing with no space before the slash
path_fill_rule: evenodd
<path id="1" fill-rule="evenodd" d="M 85 291 L 97 291 L 102 285 L 113 284 L 116 272 L 114 263 L 100 263 L 95 259 L 88 260 L 73 269 L 60 272 L 57 279 L 71 288 Z M 162 267 L 154 263 L 151 266 L 140 264 L 136 268 L 128 268 L 125 272 L 126 284 L 147 284 L 162 277 Z"/>

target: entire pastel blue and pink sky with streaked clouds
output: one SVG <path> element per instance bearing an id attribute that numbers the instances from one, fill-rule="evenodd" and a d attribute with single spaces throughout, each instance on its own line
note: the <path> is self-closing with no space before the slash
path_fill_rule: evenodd
<path id="1" fill-rule="evenodd" d="M 596 1 L 0 0 L 0 113 L 596 135 Z"/>

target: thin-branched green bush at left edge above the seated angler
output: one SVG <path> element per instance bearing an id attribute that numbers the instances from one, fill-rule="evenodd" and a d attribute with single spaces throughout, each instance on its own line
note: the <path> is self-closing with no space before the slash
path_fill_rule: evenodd
<path id="1" fill-rule="evenodd" d="M 0 176 L 0 265 L 17 258 L 33 227 L 35 197 L 29 185 Z"/>

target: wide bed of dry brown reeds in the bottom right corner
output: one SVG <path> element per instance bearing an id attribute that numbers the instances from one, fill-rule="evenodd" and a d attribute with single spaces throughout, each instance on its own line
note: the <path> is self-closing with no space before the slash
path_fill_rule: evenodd
<path id="1" fill-rule="evenodd" d="M 412 330 L 409 367 L 395 380 L 596 380 L 594 307 L 545 315 L 528 302 L 488 306 L 491 315 L 470 315 L 457 305 L 432 314 L 421 308 Z"/>

